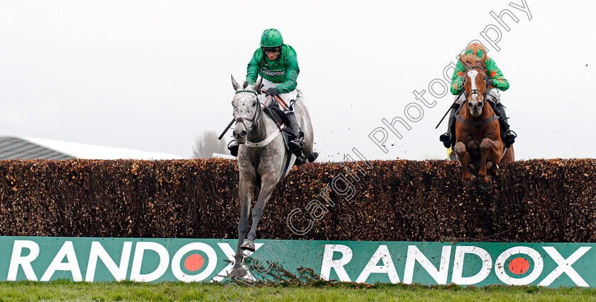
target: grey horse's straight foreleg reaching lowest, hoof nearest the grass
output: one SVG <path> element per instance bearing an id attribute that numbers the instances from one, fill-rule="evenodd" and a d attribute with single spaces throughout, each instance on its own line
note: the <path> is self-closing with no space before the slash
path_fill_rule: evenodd
<path id="1" fill-rule="evenodd" d="M 253 199 L 254 185 L 252 180 L 240 175 L 240 182 L 238 182 L 238 201 L 240 202 L 240 221 L 238 222 L 238 246 L 236 247 L 236 255 L 234 255 L 234 267 L 232 269 L 232 278 L 244 277 L 245 270 L 242 267 L 244 260 L 243 250 L 241 248 L 244 238 L 248 233 L 248 213 L 250 211 L 250 201 Z"/>

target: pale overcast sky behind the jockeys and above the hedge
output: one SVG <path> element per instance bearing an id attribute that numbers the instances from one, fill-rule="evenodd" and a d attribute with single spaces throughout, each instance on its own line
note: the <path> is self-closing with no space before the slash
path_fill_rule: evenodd
<path id="1" fill-rule="evenodd" d="M 517 159 L 596 156 L 594 1 L 260 3 L 0 1 L 0 135 L 190 158 L 197 135 L 231 120 L 230 75 L 243 81 L 261 33 L 277 28 L 297 51 L 321 161 L 353 147 L 368 159 L 444 158 L 443 69 L 472 40 L 509 80 Z M 490 14 L 504 9 L 518 20 L 503 15 L 509 31 Z M 411 127 L 398 124 L 402 139 L 382 122 L 394 117 Z M 386 153 L 369 137 L 382 139 L 379 127 Z"/>

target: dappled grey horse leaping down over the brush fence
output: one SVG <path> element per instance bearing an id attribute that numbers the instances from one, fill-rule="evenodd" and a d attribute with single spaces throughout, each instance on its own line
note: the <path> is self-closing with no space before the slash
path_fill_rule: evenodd
<path id="1" fill-rule="evenodd" d="M 234 120 L 236 120 L 233 137 L 236 139 L 236 143 L 240 145 L 238 149 L 240 223 L 238 223 L 238 247 L 234 257 L 232 278 L 246 275 L 245 269 L 242 267 L 243 250 L 255 251 L 254 240 L 257 225 L 263 218 L 263 209 L 269 201 L 275 185 L 285 178 L 296 161 L 296 156 L 291 153 L 289 165 L 285 169 L 289 151 L 285 148 L 285 142 L 279 128 L 270 117 L 263 114 L 258 100 L 258 89 L 262 81 L 263 78 L 260 78 L 254 85 L 248 83 L 239 85 L 232 76 L 232 86 L 236 91 L 236 95 L 232 100 L 233 115 Z M 300 95 L 294 103 L 294 112 L 300 129 L 304 132 L 304 149 L 302 153 L 305 158 L 309 158 L 309 161 L 314 161 L 316 153 L 313 152 L 312 124 L 309 112 L 302 103 L 302 96 Z M 250 215 L 253 192 L 258 185 L 260 185 L 260 194 L 253 208 L 253 224 L 250 226 L 249 231 L 248 215 Z M 248 238 L 244 241 L 247 234 Z"/>

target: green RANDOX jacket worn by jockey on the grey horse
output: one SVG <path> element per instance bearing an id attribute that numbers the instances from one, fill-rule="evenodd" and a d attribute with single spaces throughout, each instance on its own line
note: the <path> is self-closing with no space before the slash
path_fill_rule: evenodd
<path id="1" fill-rule="evenodd" d="M 299 72 L 296 51 L 291 46 L 282 45 L 282 53 L 274 61 L 267 58 L 263 50 L 258 48 L 246 67 L 246 82 L 254 84 L 258 76 L 263 76 L 273 83 L 279 83 L 275 88 L 280 93 L 289 93 L 296 89 Z"/>

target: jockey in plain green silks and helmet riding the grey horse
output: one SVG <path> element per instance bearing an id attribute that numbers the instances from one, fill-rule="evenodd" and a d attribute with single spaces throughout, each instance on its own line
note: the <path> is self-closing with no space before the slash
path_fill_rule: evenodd
<path id="1" fill-rule="evenodd" d="M 258 76 L 263 77 L 262 90 L 265 95 L 258 96 L 261 103 L 267 100 L 267 106 L 277 105 L 272 97 L 279 95 L 282 100 L 289 105 L 290 101 L 296 100 L 298 91 L 296 90 L 296 79 L 300 69 L 296 59 L 296 51 L 291 46 L 284 44 L 282 34 L 275 28 L 263 31 L 261 35 L 260 47 L 255 50 L 253 58 L 248 62 L 246 68 L 246 82 L 254 84 Z M 300 139 L 298 122 L 292 108 L 281 108 L 289 120 L 289 131 L 292 137 L 289 138 L 288 146 L 290 151 L 297 153 L 304 149 L 304 142 Z M 231 149 L 238 145 L 229 146 Z M 231 150 L 232 151 L 232 150 Z"/>

